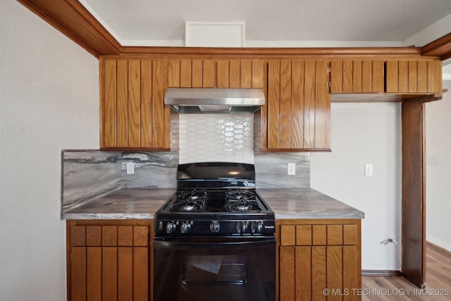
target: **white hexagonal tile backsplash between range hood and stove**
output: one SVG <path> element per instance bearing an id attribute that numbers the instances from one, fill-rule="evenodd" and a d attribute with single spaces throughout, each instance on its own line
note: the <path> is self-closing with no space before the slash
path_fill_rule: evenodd
<path id="1" fill-rule="evenodd" d="M 180 164 L 254 163 L 254 115 L 180 114 Z"/>

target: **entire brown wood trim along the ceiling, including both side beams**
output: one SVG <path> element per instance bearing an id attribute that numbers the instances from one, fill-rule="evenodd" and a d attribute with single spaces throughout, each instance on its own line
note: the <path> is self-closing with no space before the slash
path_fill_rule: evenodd
<path id="1" fill-rule="evenodd" d="M 77 0 L 17 0 L 33 13 L 79 44 L 93 56 L 224 56 L 291 59 L 307 56 L 438 56 L 451 57 L 451 32 L 424 47 L 347 48 L 211 48 L 211 47 L 123 47 Z"/>

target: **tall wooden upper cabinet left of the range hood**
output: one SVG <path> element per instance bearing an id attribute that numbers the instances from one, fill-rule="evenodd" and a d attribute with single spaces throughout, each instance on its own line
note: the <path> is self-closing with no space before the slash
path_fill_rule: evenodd
<path id="1" fill-rule="evenodd" d="M 170 149 L 163 60 L 100 59 L 101 149 Z"/>

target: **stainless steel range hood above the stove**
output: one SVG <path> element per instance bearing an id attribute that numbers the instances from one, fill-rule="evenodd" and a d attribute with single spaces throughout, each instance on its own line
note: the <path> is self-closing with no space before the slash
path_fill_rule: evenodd
<path id="1" fill-rule="evenodd" d="M 164 104 L 178 113 L 254 113 L 265 95 L 261 89 L 169 88 Z"/>

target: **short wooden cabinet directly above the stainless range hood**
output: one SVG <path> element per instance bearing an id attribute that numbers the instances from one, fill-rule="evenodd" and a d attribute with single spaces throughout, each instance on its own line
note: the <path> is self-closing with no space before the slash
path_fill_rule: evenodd
<path id="1" fill-rule="evenodd" d="M 170 60 L 168 87 L 261 88 L 264 87 L 264 62 L 258 59 Z"/>

